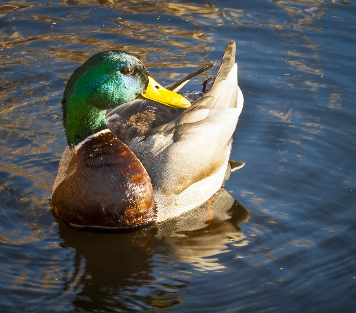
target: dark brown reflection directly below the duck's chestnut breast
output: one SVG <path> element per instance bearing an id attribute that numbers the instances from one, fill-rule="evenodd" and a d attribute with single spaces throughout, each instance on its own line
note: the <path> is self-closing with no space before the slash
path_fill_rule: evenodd
<path id="1" fill-rule="evenodd" d="M 74 271 L 67 272 L 63 292 L 63 296 L 77 293 L 75 306 L 85 311 L 100 309 L 108 299 L 119 305 L 123 300 L 120 291 L 153 279 L 151 230 L 128 234 L 78 232 L 58 219 L 57 222 L 59 237 L 64 240 L 61 245 L 75 249 Z M 114 296 L 117 292 L 119 298 Z"/>

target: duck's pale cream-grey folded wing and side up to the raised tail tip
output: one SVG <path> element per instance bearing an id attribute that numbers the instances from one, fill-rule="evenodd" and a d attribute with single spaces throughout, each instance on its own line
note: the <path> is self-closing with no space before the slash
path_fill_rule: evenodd
<path id="1" fill-rule="evenodd" d="M 151 177 L 158 221 L 203 204 L 227 174 L 232 134 L 244 103 L 235 52 L 231 41 L 213 87 L 201 99 L 128 143 Z"/>

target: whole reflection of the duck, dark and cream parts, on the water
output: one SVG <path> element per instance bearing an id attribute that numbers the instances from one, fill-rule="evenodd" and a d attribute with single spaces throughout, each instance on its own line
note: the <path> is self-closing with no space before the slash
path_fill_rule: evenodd
<path id="1" fill-rule="evenodd" d="M 137 301 L 154 307 L 154 295 L 141 298 L 136 293 L 142 285 L 155 284 L 155 254 L 187 262 L 200 271 L 221 269 L 224 266 L 209 257 L 228 252 L 229 239 L 246 238 L 239 223 L 249 217 L 221 188 L 197 209 L 127 233 L 78 230 L 57 218 L 63 248 L 75 249 L 75 271 L 68 275 L 64 293 L 76 292 L 73 304 L 84 310 L 99 310 L 108 303 L 124 309 Z M 168 306 L 176 303 L 174 293 L 165 297 L 167 301 Z"/>

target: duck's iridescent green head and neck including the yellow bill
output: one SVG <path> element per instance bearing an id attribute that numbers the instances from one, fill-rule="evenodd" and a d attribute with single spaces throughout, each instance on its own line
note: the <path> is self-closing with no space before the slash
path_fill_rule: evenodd
<path id="1" fill-rule="evenodd" d="M 113 50 L 93 55 L 74 71 L 64 90 L 63 125 L 68 145 L 73 148 L 108 128 L 106 110 L 137 97 L 170 106 L 190 106 L 188 100 L 157 84 L 132 54 Z"/>

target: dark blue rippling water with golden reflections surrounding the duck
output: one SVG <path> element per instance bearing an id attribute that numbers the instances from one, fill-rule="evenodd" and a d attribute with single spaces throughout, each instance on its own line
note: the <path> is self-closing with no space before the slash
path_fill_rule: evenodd
<path id="1" fill-rule="evenodd" d="M 0 16 L 1 312 L 356 312 L 355 1 L 13 0 Z M 74 69 L 122 49 L 166 85 L 231 39 L 246 165 L 223 205 L 127 234 L 57 221 Z"/>

